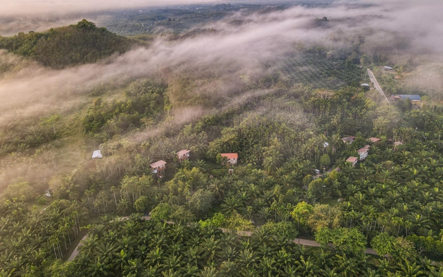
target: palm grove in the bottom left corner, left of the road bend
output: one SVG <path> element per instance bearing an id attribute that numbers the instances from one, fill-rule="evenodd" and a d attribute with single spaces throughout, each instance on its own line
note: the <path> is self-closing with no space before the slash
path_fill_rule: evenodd
<path id="1" fill-rule="evenodd" d="M 62 258 L 88 212 L 75 202 L 55 201 L 44 211 L 29 211 L 17 199 L 0 203 L 0 274 L 43 276 L 44 267 Z"/>

